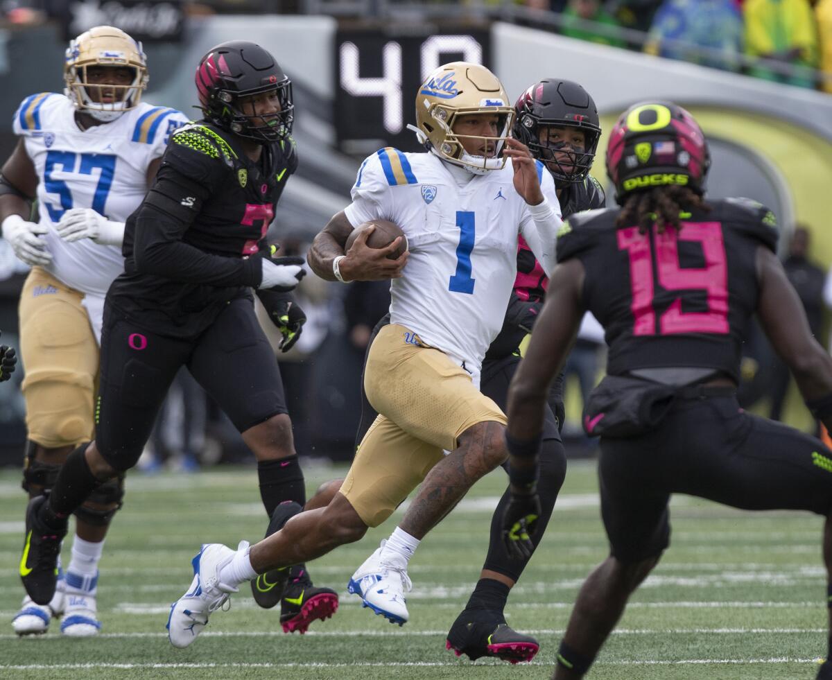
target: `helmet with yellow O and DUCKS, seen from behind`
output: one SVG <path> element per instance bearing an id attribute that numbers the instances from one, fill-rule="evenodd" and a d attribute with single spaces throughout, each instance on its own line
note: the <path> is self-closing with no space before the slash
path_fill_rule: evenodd
<path id="1" fill-rule="evenodd" d="M 687 186 L 705 192 L 711 155 L 690 113 L 668 101 L 642 102 L 618 119 L 607 144 L 607 175 L 622 204 L 635 191 Z"/>

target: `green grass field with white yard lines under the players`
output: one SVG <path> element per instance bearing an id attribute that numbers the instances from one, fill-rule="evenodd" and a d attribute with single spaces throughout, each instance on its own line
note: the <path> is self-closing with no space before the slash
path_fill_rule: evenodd
<path id="1" fill-rule="evenodd" d="M 344 468 L 307 466 L 308 487 Z M 215 613 L 190 648 L 167 641 L 170 603 L 191 582 L 201 542 L 256 540 L 265 515 L 255 469 L 194 476 L 132 474 L 102 559 L 97 638 L 17 638 L 11 618 L 22 597 L 17 561 L 23 495 L 17 471 L 0 472 L 0 678 L 548 678 L 582 579 L 606 554 L 592 462 L 572 461 L 546 539 L 514 589 L 514 628 L 541 651 L 531 664 L 470 663 L 445 649 L 445 634 L 483 562 L 502 472 L 481 481 L 423 542 L 411 562 L 410 622 L 393 626 L 346 593 L 354 568 L 393 529 L 399 514 L 357 544 L 310 565 L 339 591 L 334 618 L 304 636 L 280 631 L 279 612 L 258 609 L 247 589 Z M 633 598 L 589 678 L 768 680 L 815 678 L 826 651 L 822 522 L 811 515 L 752 515 L 678 497 L 671 549 Z"/>

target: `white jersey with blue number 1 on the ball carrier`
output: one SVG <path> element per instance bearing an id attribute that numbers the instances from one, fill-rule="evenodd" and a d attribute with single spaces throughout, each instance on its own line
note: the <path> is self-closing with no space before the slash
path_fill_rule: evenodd
<path id="1" fill-rule="evenodd" d="M 518 234 L 538 261 L 554 262 L 560 220 L 550 234 L 537 234 L 513 175 L 509 161 L 460 187 L 433 154 L 381 149 L 364 160 L 344 210 L 354 227 L 389 219 L 404 230 L 410 254 L 404 276 L 391 282 L 390 321 L 465 362 L 475 376 L 503 328 L 517 276 Z M 552 175 L 539 161 L 537 177 L 560 216 Z"/>

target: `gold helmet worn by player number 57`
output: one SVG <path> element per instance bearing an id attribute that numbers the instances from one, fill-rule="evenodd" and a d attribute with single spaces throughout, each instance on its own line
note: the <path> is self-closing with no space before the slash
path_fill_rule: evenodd
<path id="1" fill-rule="evenodd" d="M 129 85 L 97 85 L 89 82 L 89 67 L 129 68 L 134 77 Z M 63 65 L 64 90 L 79 111 L 98 121 L 115 121 L 138 106 L 147 86 L 147 59 L 136 42 L 120 28 L 97 26 L 83 32 L 67 47 Z M 113 101 L 102 101 L 102 91 L 115 92 Z"/>

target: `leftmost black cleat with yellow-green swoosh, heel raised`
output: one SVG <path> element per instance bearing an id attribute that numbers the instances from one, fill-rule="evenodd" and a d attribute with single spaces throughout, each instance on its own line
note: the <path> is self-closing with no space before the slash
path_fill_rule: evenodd
<path id="1" fill-rule="evenodd" d="M 35 604 L 47 605 L 55 595 L 57 585 L 57 558 L 61 554 L 61 541 L 67 528 L 54 530 L 38 517 L 38 511 L 46 503 L 45 495 L 35 496 L 26 508 L 26 540 L 20 558 L 20 578 L 23 587 Z"/>

